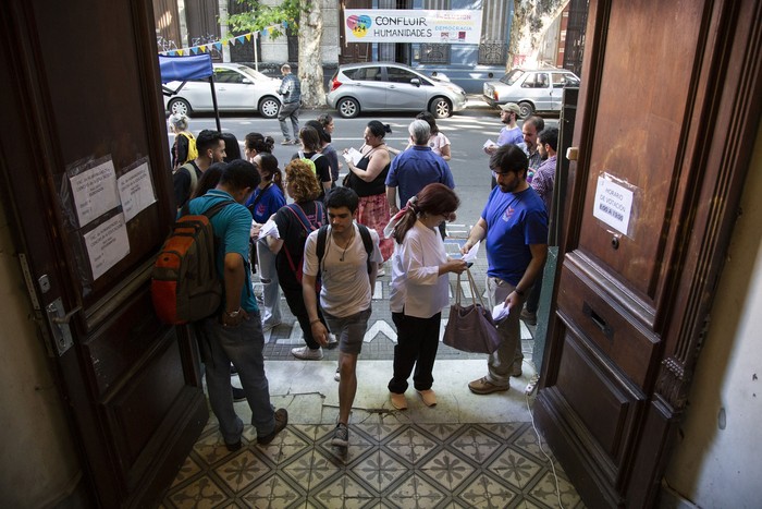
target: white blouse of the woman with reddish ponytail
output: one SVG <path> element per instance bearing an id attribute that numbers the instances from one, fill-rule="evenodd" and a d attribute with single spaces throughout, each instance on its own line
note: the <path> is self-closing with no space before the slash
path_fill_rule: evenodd
<path id="1" fill-rule="evenodd" d="M 450 304 L 446 274 L 439 276 L 439 266 L 447 260 L 439 230 L 420 220 L 405 234 L 402 244 L 394 244 L 392 256 L 392 291 L 390 307 L 417 318 L 431 318 Z"/>

